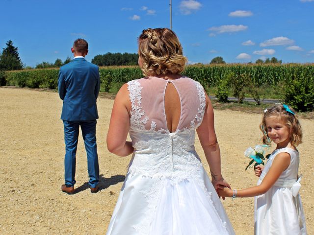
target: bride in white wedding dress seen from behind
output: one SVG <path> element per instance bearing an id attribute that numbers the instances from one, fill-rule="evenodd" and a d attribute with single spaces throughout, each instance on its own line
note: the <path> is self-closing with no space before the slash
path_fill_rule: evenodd
<path id="1" fill-rule="evenodd" d="M 208 95 L 180 74 L 186 58 L 173 31 L 143 30 L 138 47 L 146 77 L 122 86 L 107 134 L 110 152 L 133 154 L 107 235 L 235 234 L 216 193 L 218 185 L 230 186 Z M 195 130 L 211 182 L 195 152 Z"/>

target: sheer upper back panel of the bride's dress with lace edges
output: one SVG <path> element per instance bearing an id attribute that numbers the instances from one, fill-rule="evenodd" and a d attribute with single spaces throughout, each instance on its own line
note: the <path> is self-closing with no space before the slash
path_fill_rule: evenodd
<path id="1" fill-rule="evenodd" d="M 197 128 L 204 116 L 205 92 L 202 85 L 188 77 L 164 80 L 145 77 L 128 82 L 132 105 L 131 129 L 170 133 L 164 108 L 167 83 L 172 83 L 181 102 L 181 116 L 177 131 Z"/>

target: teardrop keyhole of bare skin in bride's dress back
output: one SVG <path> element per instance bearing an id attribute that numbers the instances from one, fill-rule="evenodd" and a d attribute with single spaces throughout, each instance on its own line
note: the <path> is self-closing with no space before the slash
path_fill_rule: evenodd
<path id="1" fill-rule="evenodd" d="M 165 115 L 169 132 L 175 132 L 181 117 L 181 101 L 172 82 L 167 82 L 165 90 Z"/>

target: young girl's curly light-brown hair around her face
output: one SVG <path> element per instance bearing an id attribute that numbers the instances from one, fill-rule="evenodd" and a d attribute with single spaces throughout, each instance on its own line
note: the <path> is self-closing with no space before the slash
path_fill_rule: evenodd
<path id="1" fill-rule="evenodd" d="M 290 111 L 292 111 L 294 114 L 291 112 L 287 111 L 286 107 Z M 285 121 L 286 125 L 288 126 L 290 130 L 290 143 L 294 146 L 297 146 L 298 144 L 302 143 L 302 129 L 301 125 L 298 120 L 298 116 L 296 115 L 294 109 L 292 109 L 290 106 L 284 105 L 275 105 L 271 107 L 270 109 L 266 109 L 264 111 L 264 115 L 262 118 L 262 123 L 260 125 L 260 129 L 262 130 L 263 133 L 263 143 L 265 144 L 270 144 L 271 140 L 269 139 L 267 135 L 267 126 L 265 119 L 271 116 L 278 116 L 281 120 Z"/>

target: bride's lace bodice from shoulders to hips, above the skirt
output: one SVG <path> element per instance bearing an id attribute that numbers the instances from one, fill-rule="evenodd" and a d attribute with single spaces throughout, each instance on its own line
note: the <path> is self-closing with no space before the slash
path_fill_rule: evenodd
<path id="1" fill-rule="evenodd" d="M 164 109 L 164 94 L 172 82 L 181 101 L 178 128 L 170 133 Z M 206 100 L 200 83 L 182 77 L 164 80 L 141 78 L 128 83 L 131 100 L 130 136 L 134 156 L 130 171 L 150 177 L 181 177 L 201 166 L 194 148 L 195 129 L 201 124 Z M 179 178 L 180 178 L 179 177 Z"/>

